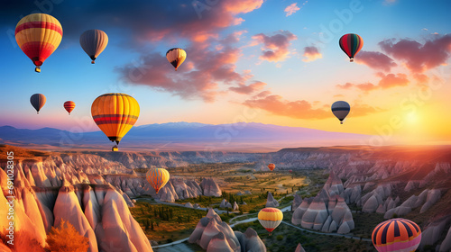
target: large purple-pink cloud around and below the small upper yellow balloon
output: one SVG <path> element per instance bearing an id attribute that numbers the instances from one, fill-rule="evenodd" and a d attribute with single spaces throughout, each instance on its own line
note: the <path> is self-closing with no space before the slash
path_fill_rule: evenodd
<path id="1" fill-rule="evenodd" d="M 140 64 L 119 67 L 125 81 L 134 85 L 147 85 L 152 89 L 178 95 L 183 99 L 202 99 L 214 102 L 221 94 L 220 85 L 244 85 L 252 77 L 249 72 L 235 71 L 241 50 L 224 42 L 221 50 L 207 49 L 206 44 L 195 43 L 186 50 L 187 60 L 175 72 L 168 60 L 159 53 L 143 55 Z M 259 84 L 250 88 L 258 89 Z"/>

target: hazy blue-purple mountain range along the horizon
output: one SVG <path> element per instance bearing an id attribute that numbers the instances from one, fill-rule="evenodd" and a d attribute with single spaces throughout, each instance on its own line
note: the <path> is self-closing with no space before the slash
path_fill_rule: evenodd
<path id="1" fill-rule="evenodd" d="M 272 151 L 287 147 L 357 145 L 370 136 L 286 127 L 255 122 L 203 124 L 198 122 L 155 123 L 133 127 L 120 144 L 121 149 L 137 150 L 235 150 Z M 365 141 L 366 140 L 366 141 Z M 111 148 L 101 131 L 69 132 L 0 127 L 0 143 L 40 148 Z"/>

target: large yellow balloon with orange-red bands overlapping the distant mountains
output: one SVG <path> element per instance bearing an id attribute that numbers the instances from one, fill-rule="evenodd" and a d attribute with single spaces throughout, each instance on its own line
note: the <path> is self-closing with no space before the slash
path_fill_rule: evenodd
<path id="1" fill-rule="evenodd" d="M 140 106 L 128 94 L 102 94 L 92 103 L 91 114 L 108 139 L 119 144 L 138 120 Z"/>

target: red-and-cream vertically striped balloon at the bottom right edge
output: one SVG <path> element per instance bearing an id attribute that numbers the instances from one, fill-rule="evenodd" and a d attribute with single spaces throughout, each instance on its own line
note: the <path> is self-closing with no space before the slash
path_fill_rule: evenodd
<path id="1" fill-rule="evenodd" d="M 411 220 L 385 220 L 373 230 L 372 239 L 379 252 L 415 251 L 421 241 L 421 229 Z"/>

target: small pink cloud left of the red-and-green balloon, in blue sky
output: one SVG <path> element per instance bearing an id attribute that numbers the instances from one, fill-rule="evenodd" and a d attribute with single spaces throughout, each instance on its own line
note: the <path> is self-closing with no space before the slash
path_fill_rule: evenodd
<path id="1" fill-rule="evenodd" d="M 290 31 L 278 31 L 272 36 L 259 33 L 253 36 L 254 42 L 252 45 L 263 44 L 260 59 L 279 62 L 289 57 L 290 41 L 296 39 L 296 35 Z"/>

